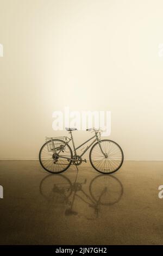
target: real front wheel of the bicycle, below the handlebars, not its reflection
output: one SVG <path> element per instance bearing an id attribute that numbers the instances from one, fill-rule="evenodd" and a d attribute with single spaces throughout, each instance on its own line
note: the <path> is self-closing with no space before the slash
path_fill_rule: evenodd
<path id="1" fill-rule="evenodd" d="M 116 142 L 109 139 L 102 139 L 100 141 L 103 153 L 99 147 L 99 143 L 95 143 L 90 150 L 90 162 L 92 167 L 99 173 L 110 174 L 116 172 L 123 163 L 123 151 Z"/>

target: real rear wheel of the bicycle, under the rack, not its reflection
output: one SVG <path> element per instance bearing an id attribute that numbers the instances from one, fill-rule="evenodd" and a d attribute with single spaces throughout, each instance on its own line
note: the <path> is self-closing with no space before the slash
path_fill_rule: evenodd
<path id="1" fill-rule="evenodd" d="M 56 153 L 54 153 L 52 141 L 49 140 L 40 149 L 39 161 L 41 166 L 49 173 L 62 173 L 70 167 L 72 150 L 61 139 L 53 139 Z M 65 157 L 65 158 L 62 158 Z"/>

